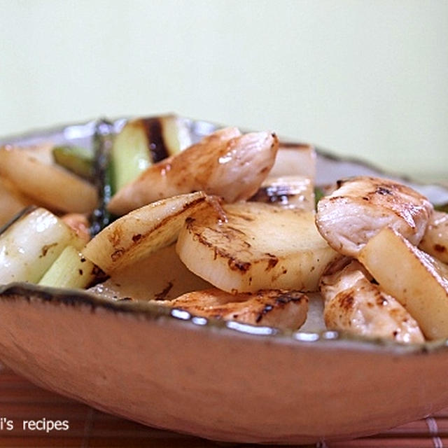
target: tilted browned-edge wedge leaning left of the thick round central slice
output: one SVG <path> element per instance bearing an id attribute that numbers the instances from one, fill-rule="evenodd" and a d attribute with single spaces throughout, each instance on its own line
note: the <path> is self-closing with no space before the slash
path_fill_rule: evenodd
<path id="1" fill-rule="evenodd" d="M 211 207 L 202 192 L 169 197 L 122 216 L 99 232 L 83 253 L 106 274 L 137 262 L 176 241 L 186 218 L 201 207 Z M 212 207 L 211 207 L 212 208 Z"/>

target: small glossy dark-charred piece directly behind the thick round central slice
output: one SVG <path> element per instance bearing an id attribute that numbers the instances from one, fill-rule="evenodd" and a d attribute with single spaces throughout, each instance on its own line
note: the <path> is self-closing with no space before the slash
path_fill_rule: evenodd
<path id="1" fill-rule="evenodd" d="M 314 211 L 314 186 L 306 176 L 281 176 L 266 179 L 251 201 L 279 205 L 286 209 Z"/>

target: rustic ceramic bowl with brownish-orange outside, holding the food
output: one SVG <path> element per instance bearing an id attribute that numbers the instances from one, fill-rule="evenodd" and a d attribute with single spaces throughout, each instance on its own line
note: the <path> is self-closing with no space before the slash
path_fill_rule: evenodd
<path id="1" fill-rule="evenodd" d="M 198 137 L 213 130 L 192 126 Z M 87 123 L 6 141 L 82 144 L 93 129 Z M 319 155 L 322 181 L 365 172 L 377 173 Z M 446 189 L 421 188 L 448 202 Z M 448 406 L 447 341 L 400 345 L 316 322 L 281 332 L 12 283 L 0 287 L 0 358 L 39 386 L 105 412 L 225 442 L 342 440 Z"/>

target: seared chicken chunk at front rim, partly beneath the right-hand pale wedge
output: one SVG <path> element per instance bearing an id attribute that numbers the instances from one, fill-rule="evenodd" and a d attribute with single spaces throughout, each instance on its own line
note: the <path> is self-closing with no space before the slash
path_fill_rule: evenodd
<path id="1" fill-rule="evenodd" d="M 397 342 L 423 342 L 414 318 L 391 295 L 370 281 L 363 265 L 349 259 L 335 263 L 321 278 L 325 300 L 325 325 L 368 337 L 384 337 Z"/>

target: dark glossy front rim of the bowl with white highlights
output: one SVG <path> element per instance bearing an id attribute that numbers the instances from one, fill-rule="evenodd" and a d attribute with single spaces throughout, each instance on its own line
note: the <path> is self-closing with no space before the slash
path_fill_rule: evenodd
<path id="1" fill-rule="evenodd" d="M 73 310 L 85 307 L 91 311 L 106 311 L 120 316 L 132 316 L 148 323 L 165 321 L 181 325 L 179 328 L 194 329 L 204 332 L 218 332 L 218 335 L 251 337 L 256 341 L 269 340 L 274 344 L 314 347 L 319 349 L 346 349 L 351 351 L 376 351 L 391 353 L 394 356 L 409 356 L 428 353 L 448 353 L 448 339 L 435 339 L 419 343 L 400 343 L 380 337 L 363 337 L 344 330 L 302 331 L 281 330 L 268 326 L 251 325 L 237 321 L 223 321 L 217 318 L 195 316 L 180 308 L 169 308 L 154 302 L 141 300 L 109 300 L 87 290 L 69 288 L 52 288 L 32 283 L 13 282 L 0 285 L 0 302 L 34 302 L 49 303 L 53 306 L 63 305 Z"/>

